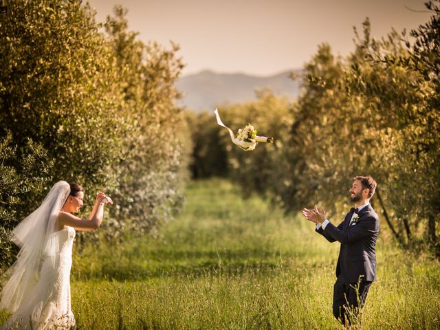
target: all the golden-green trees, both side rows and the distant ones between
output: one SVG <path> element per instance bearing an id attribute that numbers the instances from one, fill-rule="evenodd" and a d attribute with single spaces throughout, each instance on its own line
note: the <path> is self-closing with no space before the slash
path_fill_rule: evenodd
<path id="1" fill-rule="evenodd" d="M 366 19 L 348 56 L 319 45 L 297 100 L 263 89 L 220 106 L 232 129 L 251 122 L 275 139 L 243 152 L 212 113 L 177 107 L 178 46 L 139 41 L 124 8 L 98 23 L 82 1 L 0 1 L 1 264 L 10 230 L 59 179 L 83 184 L 89 201 L 111 194 L 101 232 L 118 239 L 158 234 L 189 173 L 228 177 L 286 212 L 318 203 L 335 221 L 352 178 L 370 174 L 395 239 L 439 254 L 439 1 L 426 8 L 427 23 L 382 39 Z"/>

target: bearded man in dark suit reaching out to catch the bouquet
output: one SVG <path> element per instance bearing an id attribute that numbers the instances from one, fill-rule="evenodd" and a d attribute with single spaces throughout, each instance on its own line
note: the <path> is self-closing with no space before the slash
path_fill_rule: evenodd
<path id="1" fill-rule="evenodd" d="M 368 177 L 355 177 L 349 190 L 354 208 L 336 227 L 319 212 L 303 209 L 307 220 L 316 223 L 316 232 L 327 241 L 339 241 L 341 248 L 336 266 L 336 283 L 333 286 L 333 315 L 343 325 L 353 322 L 353 317 L 365 303 L 371 283 L 376 279 L 376 241 L 379 234 L 379 217 L 370 204 L 376 181 Z"/>

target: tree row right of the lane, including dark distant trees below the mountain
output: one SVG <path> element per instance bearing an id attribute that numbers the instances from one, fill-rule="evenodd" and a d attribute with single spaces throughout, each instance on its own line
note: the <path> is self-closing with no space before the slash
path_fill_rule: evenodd
<path id="1" fill-rule="evenodd" d="M 439 1 L 426 8 L 428 22 L 381 39 L 366 19 L 348 56 L 319 45 L 297 100 L 258 91 L 254 102 L 219 107 L 225 124 L 252 122 L 274 146 L 243 153 L 211 114 L 190 115 L 192 175 L 231 177 L 244 196 L 263 193 L 287 212 L 317 203 L 334 221 L 349 208 L 353 177 L 372 175 L 382 225 L 440 256 Z"/>

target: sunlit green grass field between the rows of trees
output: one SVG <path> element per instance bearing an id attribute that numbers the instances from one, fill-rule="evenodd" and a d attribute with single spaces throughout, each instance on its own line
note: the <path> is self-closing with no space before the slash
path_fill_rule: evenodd
<path id="1" fill-rule="evenodd" d="M 192 182 L 186 196 L 159 239 L 74 251 L 80 329 L 342 328 L 331 314 L 339 243 L 228 181 Z M 386 236 L 359 327 L 439 329 L 439 261 Z"/>

